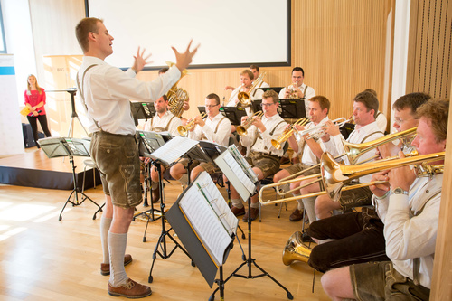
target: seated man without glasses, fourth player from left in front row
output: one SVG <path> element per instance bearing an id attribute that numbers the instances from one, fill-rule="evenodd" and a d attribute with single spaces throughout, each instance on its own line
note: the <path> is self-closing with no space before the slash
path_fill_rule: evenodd
<path id="1" fill-rule="evenodd" d="M 298 131 L 309 129 L 312 127 L 316 127 L 318 125 L 324 124 L 328 119 L 328 112 L 330 109 L 330 101 L 326 99 L 324 96 L 315 96 L 309 99 L 309 118 L 311 118 L 311 122 L 307 124 L 306 127 L 295 126 Z M 322 143 L 320 139 L 307 139 L 307 135 L 303 136 L 303 139 L 298 143 L 295 140 L 294 136 L 289 137 L 287 140 L 289 146 L 292 147 L 294 153 L 297 155 L 303 152 L 301 157 L 301 163 L 297 163 L 294 165 L 290 165 L 289 167 L 279 171 L 273 177 L 273 182 L 277 183 L 281 181 L 281 179 L 286 178 L 291 174 L 300 173 L 303 170 L 306 170 L 314 165 L 317 165 L 315 168 L 311 168 L 310 170 L 303 173 L 302 176 L 310 175 L 310 174 L 320 174 L 320 165 L 318 165 L 319 158 L 323 154 L 323 152 L 327 151 L 325 149 L 325 145 Z M 290 190 L 297 188 L 299 186 L 298 183 L 291 183 Z M 299 191 L 298 191 L 299 193 Z M 298 195 L 298 193 L 294 193 L 294 195 Z M 314 212 L 314 203 L 310 206 L 304 206 L 304 199 L 297 200 L 298 205 L 292 214 L 290 214 L 290 221 L 300 221 L 303 218 L 303 211 L 306 208 L 308 211 L 308 216 L 310 218 L 314 218 L 315 221 L 315 212 Z M 314 199 L 315 202 L 315 199 Z"/>

